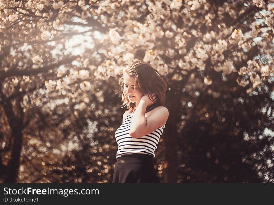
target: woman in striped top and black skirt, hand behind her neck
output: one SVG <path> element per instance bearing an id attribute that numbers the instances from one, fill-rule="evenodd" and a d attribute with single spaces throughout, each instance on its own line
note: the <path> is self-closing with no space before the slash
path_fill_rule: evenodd
<path id="1" fill-rule="evenodd" d="M 112 183 L 160 183 L 153 158 L 168 119 L 163 106 L 167 84 L 144 61 L 126 66 L 120 80 L 122 105 L 128 109 L 115 132 L 118 151 Z"/>

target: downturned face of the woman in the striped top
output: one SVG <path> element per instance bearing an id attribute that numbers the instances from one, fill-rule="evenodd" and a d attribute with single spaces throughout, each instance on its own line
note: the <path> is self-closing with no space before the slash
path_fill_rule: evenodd
<path id="1" fill-rule="evenodd" d="M 137 87 L 134 87 L 135 77 L 130 76 L 127 73 L 124 73 L 124 91 L 127 98 L 132 103 L 139 104 L 141 98 L 143 97 L 142 93 L 138 91 Z M 137 85 L 136 85 L 137 86 Z"/>

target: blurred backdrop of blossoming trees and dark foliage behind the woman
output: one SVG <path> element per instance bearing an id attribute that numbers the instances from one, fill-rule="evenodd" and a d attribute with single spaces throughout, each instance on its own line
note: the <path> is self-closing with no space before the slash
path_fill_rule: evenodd
<path id="1" fill-rule="evenodd" d="M 167 82 L 162 183 L 273 183 L 274 1 L 2 0 L 0 182 L 111 183 L 122 65 Z"/>

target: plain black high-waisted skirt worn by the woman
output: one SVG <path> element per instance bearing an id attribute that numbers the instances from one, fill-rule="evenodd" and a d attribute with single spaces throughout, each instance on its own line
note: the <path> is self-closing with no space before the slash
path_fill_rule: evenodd
<path id="1" fill-rule="evenodd" d="M 124 154 L 118 157 L 112 183 L 161 183 L 154 170 L 153 156 Z"/>

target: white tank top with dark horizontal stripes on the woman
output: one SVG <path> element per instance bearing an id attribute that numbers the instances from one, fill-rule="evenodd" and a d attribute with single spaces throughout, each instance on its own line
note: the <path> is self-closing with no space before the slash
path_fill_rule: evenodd
<path id="1" fill-rule="evenodd" d="M 129 134 L 132 115 L 133 113 L 129 114 L 115 132 L 115 139 L 118 144 L 116 159 L 123 154 L 149 154 L 155 157 L 154 152 L 166 124 L 143 137 L 133 138 Z"/>

